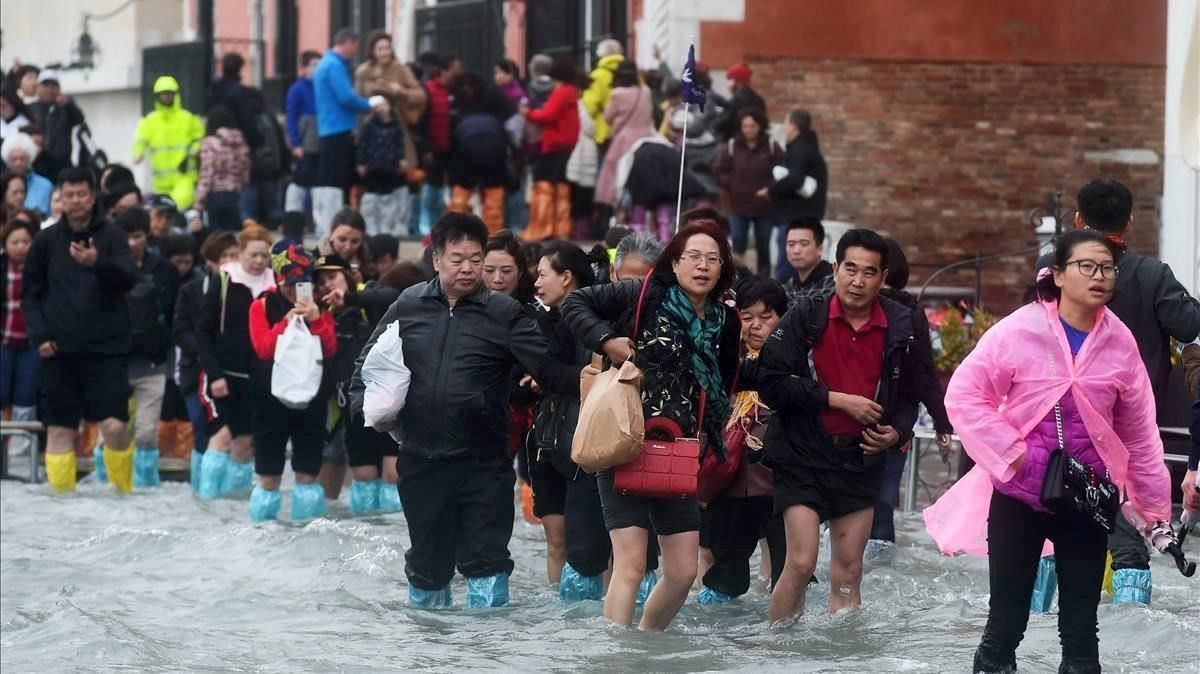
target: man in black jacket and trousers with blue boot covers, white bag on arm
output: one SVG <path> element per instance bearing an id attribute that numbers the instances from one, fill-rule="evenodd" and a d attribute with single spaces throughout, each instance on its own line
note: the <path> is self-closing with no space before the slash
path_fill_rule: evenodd
<path id="1" fill-rule="evenodd" d="M 540 377 L 546 338 L 520 302 L 484 285 L 486 242 L 487 227 L 473 215 L 438 219 L 437 278 L 404 290 L 388 309 L 350 384 L 352 414 L 361 416 L 362 362 L 388 325 L 398 323 L 412 371 L 397 420 L 396 462 L 410 538 L 404 572 L 412 606 L 449 604 L 455 566 L 467 577 L 468 608 L 504 606 L 509 598 L 510 373 L 520 365 Z"/>

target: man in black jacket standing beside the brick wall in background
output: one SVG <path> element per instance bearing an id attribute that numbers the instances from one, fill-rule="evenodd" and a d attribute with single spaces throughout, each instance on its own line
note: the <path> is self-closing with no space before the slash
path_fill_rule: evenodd
<path id="1" fill-rule="evenodd" d="M 824 219 L 826 194 L 829 174 L 817 132 L 812 131 L 812 115 L 806 110 L 792 110 L 784 125 L 787 132 L 787 152 L 784 169 L 776 167 L 775 182 L 758 191 L 758 197 L 770 199 L 778 222 L 775 239 L 779 249 L 787 246 L 787 223 L 799 219 Z M 784 255 L 775 264 L 775 278 L 782 282 L 791 269 Z"/>

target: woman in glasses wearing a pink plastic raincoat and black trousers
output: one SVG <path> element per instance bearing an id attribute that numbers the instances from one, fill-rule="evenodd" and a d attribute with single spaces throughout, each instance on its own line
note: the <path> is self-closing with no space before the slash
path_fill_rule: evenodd
<path id="1" fill-rule="evenodd" d="M 1105 303 L 1117 266 L 1094 231 L 1064 235 L 1036 301 L 988 331 L 959 366 L 946 408 L 976 468 L 925 511 L 943 553 L 989 556 L 991 598 L 974 672 L 1015 672 L 1045 541 L 1058 572 L 1060 673 L 1099 672 L 1096 608 L 1104 529 L 1051 512 L 1039 494 L 1060 446 L 1128 497 L 1146 522 L 1170 518 L 1170 477 L 1150 378 L 1133 335 Z M 1060 440 L 1056 416 L 1061 416 Z"/>

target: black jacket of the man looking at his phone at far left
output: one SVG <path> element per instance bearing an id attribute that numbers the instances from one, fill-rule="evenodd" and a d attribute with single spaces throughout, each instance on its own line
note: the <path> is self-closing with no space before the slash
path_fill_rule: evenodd
<path id="1" fill-rule="evenodd" d="M 71 257 L 71 242 L 83 239 L 97 252 L 91 269 Z M 98 213 L 79 233 L 66 218 L 38 231 L 25 258 L 20 288 L 29 343 L 54 342 L 62 354 L 127 354 L 125 294 L 137 275 L 125 231 Z"/>

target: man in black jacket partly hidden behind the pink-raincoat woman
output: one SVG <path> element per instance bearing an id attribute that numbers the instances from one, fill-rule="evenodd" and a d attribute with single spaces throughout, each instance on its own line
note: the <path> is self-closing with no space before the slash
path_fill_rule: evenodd
<path id="1" fill-rule="evenodd" d="M 1096 179 L 1075 195 L 1075 227 L 1094 229 L 1122 251 L 1117 259 L 1117 285 L 1109 301 L 1112 311 L 1133 332 L 1146 363 L 1154 403 L 1159 414 L 1166 408 L 1171 375 L 1171 338 L 1186 344 L 1200 335 L 1200 302 L 1176 281 L 1166 264 L 1129 253 L 1124 236 L 1133 227 L 1133 193 L 1116 180 Z M 1051 264 L 1050 255 L 1038 259 L 1038 269 Z M 1150 603 L 1150 552 L 1133 525 L 1117 518 L 1109 536 L 1112 550 L 1112 603 Z"/>

